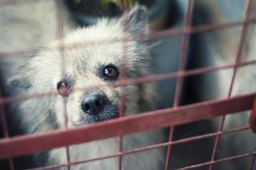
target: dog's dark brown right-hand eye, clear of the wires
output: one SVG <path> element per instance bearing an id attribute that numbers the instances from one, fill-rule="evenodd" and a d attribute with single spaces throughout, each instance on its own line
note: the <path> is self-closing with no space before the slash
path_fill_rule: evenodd
<path id="1" fill-rule="evenodd" d="M 101 76 L 105 81 L 115 81 L 119 76 L 119 72 L 115 66 L 110 64 L 103 67 Z"/>

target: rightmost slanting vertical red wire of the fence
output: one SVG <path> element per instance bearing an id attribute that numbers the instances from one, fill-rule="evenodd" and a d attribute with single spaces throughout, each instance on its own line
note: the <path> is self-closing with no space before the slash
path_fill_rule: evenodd
<path id="1" fill-rule="evenodd" d="M 244 10 L 245 11 L 244 19 L 243 19 L 244 23 L 242 25 L 240 40 L 239 40 L 239 44 L 238 44 L 239 46 L 238 46 L 238 49 L 237 49 L 237 52 L 236 52 L 235 65 L 233 67 L 233 72 L 232 72 L 231 82 L 230 82 L 229 89 L 228 89 L 227 98 L 231 97 L 232 88 L 233 88 L 233 85 L 234 85 L 234 79 L 235 79 L 236 72 L 237 72 L 237 65 L 240 64 L 242 49 L 243 49 L 242 44 L 245 41 L 246 34 L 247 34 L 247 31 L 248 31 L 248 27 L 249 27 L 249 23 L 247 23 L 246 21 L 249 20 L 250 12 L 251 12 L 251 6 L 252 6 L 252 0 L 248 0 L 247 3 L 246 3 L 246 6 L 245 6 L 245 10 Z M 216 137 L 216 141 L 215 141 L 215 145 L 214 145 L 214 149 L 213 149 L 213 154 L 212 154 L 212 158 L 211 158 L 212 162 L 216 158 L 218 145 L 219 145 L 219 142 L 221 140 L 221 135 L 222 135 L 223 130 L 224 130 L 224 121 L 225 121 L 225 115 L 223 116 L 222 121 L 221 121 L 221 125 L 219 126 L 218 132 L 220 132 L 220 135 L 218 135 Z M 209 170 L 212 170 L 212 169 L 213 169 L 213 164 L 211 164 L 209 166 Z"/>

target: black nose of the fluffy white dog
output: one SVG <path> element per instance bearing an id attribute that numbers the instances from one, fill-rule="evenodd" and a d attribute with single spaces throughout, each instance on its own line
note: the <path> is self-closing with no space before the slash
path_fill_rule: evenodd
<path id="1" fill-rule="evenodd" d="M 82 101 L 81 108 L 84 113 L 97 115 L 103 110 L 107 102 L 107 97 L 104 94 L 90 94 Z"/>

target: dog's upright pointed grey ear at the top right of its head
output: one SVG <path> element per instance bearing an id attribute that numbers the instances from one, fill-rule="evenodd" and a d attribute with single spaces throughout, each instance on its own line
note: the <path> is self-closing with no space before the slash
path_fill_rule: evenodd
<path id="1" fill-rule="evenodd" d="M 121 18 L 123 28 L 132 34 L 147 34 L 148 10 L 146 7 L 136 5 L 129 13 L 125 13 Z"/>

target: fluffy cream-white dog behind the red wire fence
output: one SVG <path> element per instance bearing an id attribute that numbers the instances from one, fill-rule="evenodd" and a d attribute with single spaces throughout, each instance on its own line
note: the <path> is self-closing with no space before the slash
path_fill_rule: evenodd
<path id="1" fill-rule="evenodd" d="M 40 50 L 10 81 L 9 91 L 27 95 L 53 93 L 11 106 L 15 128 L 23 134 L 64 128 L 64 112 L 68 127 L 116 118 L 122 93 L 125 94 L 125 115 L 153 109 L 154 84 L 111 85 L 121 80 L 124 72 L 127 78 L 151 73 L 147 42 L 132 38 L 147 33 L 147 11 L 136 6 L 119 20 L 101 20 L 91 28 L 79 28 Z M 118 40 L 126 36 L 130 36 L 130 40 Z M 163 140 L 161 131 L 149 132 L 125 137 L 123 146 L 129 149 Z M 70 147 L 70 157 L 71 161 L 79 161 L 117 153 L 118 148 L 119 138 L 83 143 Z M 161 149 L 126 155 L 122 166 L 123 169 L 158 170 L 162 168 L 163 155 Z M 65 149 L 36 154 L 33 160 L 37 166 L 65 163 Z M 118 157 L 74 165 L 71 169 L 118 169 Z"/>

